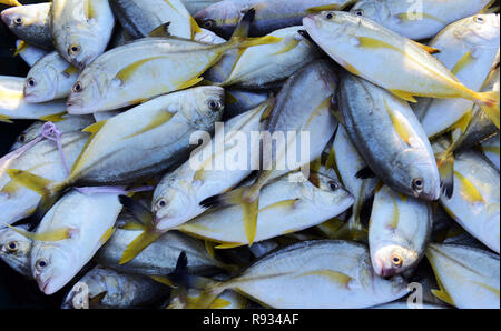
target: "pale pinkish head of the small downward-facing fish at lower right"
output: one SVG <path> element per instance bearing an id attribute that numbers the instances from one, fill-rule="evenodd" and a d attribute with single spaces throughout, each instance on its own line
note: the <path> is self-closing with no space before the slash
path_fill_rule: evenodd
<path id="1" fill-rule="evenodd" d="M 387 243 L 371 248 L 371 261 L 374 271 L 381 277 L 400 274 L 419 261 L 420 255 L 410 248 Z"/>

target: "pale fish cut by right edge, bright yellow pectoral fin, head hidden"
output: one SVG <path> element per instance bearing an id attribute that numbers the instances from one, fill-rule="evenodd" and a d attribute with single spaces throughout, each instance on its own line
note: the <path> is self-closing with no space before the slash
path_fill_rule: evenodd
<path id="1" fill-rule="evenodd" d="M 442 207 L 464 230 L 500 252 L 499 171 L 478 151 L 455 156 L 454 192 L 443 195 Z"/>

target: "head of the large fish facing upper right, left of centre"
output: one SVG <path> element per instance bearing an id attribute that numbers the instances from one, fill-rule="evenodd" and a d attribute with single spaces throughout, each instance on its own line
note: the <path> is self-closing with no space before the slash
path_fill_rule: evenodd
<path id="1" fill-rule="evenodd" d="M 200 87 L 187 91 L 186 102 L 178 102 L 179 112 L 199 130 L 214 128 L 225 109 L 225 90 L 219 87 Z"/>

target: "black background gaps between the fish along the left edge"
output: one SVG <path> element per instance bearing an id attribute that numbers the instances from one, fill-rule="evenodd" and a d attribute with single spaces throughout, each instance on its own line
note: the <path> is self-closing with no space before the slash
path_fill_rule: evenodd
<path id="1" fill-rule="evenodd" d="M 46 1 L 21 0 L 23 4 Z M 0 4 L 0 11 L 8 8 Z M 16 50 L 16 37 L 0 22 L 0 76 L 26 77 L 29 67 L 20 57 L 13 58 Z M 18 134 L 27 128 L 31 121 L 16 121 L 13 124 L 0 122 L 0 156 L 6 154 Z M 0 210 L 1 212 L 1 210 Z M 0 261 L 0 309 L 12 308 L 59 308 L 62 295 L 47 297 L 38 290 L 35 281 L 24 279 Z"/>

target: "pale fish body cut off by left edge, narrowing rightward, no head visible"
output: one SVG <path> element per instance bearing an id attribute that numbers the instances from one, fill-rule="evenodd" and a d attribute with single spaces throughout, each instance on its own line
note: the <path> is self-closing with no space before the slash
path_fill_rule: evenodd
<path id="1" fill-rule="evenodd" d="M 66 103 L 55 100 L 45 103 L 29 103 L 23 97 L 22 77 L 0 76 L 0 122 L 12 120 L 57 121 L 66 113 Z"/>

